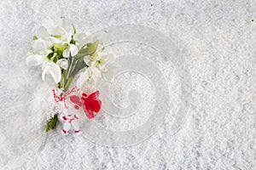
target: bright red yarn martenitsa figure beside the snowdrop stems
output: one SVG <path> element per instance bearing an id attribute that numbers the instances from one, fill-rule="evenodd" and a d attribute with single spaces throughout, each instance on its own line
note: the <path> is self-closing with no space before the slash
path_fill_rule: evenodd
<path id="1" fill-rule="evenodd" d="M 82 94 L 82 97 L 79 98 L 77 95 L 70 96 L 70 100 L 76 104 L 74 108 L 79 110 L 81 106 L 83 106 L 83 110 L 85 115 L 91 119 L 94 117 L 93 112 L 99 112 L 102 107 L 102 101 L 98 99 L 100 95 L 99 91 L 96 91 L 89 96 L 87 94 Z"/>

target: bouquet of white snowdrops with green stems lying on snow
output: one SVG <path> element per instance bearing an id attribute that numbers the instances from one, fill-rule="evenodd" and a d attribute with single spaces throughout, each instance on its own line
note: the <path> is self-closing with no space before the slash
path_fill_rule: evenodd
<path id="1" fill-rule="evenodd" d="M 113 55 L 104 53 L 105 48 L 99 40 L 88 42 L 88 36 L 88 33 L 77 32 L 75 26 L 62 17 L 55 26 L 41 26 L 38 35 L 33 37 L 32 51 L 27 54 L 26 64 L 42 67 L 43 80 L 47 75 L 52 77 L 55 88 L 61 92 L 59 97 L 55 94 L 55 101 L 65 101 L 75 91 L 74 88 L 94 87 L 97 78 L 104 77 L 107 72 L 106 65 L 113 60 Z M 73 81 L 76 81 L 76 86 L 70 90 Z M 97 96 L 94 96 L 95 99 Z M 58 116 L 63 117 L 67 112 L 67 108 L 65 111 L 54 111 L 46 131 L 55 128 Z"/>

